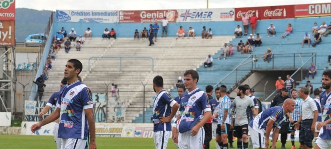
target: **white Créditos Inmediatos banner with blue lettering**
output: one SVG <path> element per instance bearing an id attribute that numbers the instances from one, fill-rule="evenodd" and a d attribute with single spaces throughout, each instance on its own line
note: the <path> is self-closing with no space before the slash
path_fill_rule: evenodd
<path id="1" fill-rule="evenodd" d="M 117 10 L 56 10 L 57 22 L 115 23 Z"/>

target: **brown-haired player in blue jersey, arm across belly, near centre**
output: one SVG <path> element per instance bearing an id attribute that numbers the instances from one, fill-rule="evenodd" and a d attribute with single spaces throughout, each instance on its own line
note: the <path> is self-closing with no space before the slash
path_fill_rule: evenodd
<path id="1" fill-rule="evenodd" d="M 202 149 L 205 140 L 204 124 L 212 117 L 212 109 L 206 92 L 197 87 L 199 74 L 194 70 L 184 73 L 185 88 L 179 111 L 181 118 L 177 122 L 174 141 L 178 141 L 180 149 Z M 177 139 L 178 136 L 178 139 Z"/>

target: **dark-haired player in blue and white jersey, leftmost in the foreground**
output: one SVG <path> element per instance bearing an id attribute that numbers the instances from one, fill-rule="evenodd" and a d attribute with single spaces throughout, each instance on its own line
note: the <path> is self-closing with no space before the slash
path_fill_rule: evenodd
<path id="1" fill-rule="evenodd" d="M 60 117 L 58 138 L 61 138 L 62 149 L 84 149 L 89 133 L 89 148 L 97 148 L 92 93 L 78 80 L 82 69 L 83 65 L 79 60 L 71 59 L 67 62 L 64 78 L 68 83 L 60 90 L 56 110 L 43 121 L 31 126 L 31 131 L 35 133 L 40 127 Z"/>

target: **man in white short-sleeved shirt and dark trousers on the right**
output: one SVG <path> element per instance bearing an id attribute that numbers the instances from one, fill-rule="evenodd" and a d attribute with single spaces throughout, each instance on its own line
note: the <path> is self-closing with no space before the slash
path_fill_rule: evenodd
<path id="1" fill-rule="evenodd" d="M 294 123 L 296 129 L 300 128 L 299 142 L 303 149 L 312 149 L 312 141 L 314 139 L 315 123 L 318 117 L 318 111 L 314 99 L 309 95 L 309 90 L 306 87 L 299 88 L 299 97 L 302 101 L 302 113 L 298 122 Z M 302 122 L 302 123 L 301 123 Z"/>

